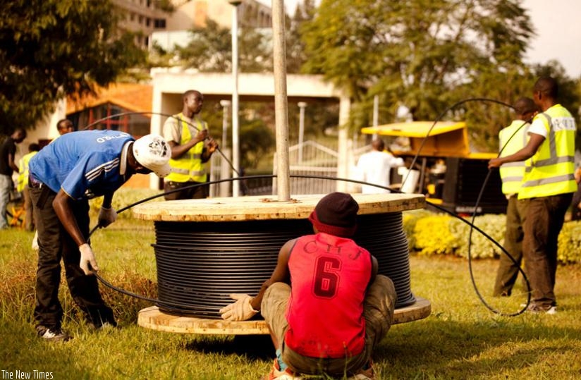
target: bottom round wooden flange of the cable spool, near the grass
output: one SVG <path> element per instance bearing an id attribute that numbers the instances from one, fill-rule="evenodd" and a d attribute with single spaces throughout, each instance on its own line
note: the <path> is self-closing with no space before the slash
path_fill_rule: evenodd
<path id="1" fill-rule="evenodd" d="M 428 317 L 432 312 L 429 300 L 416 298 L 416 302 L 400 307 L 393 313 L 393 324 L 402 324 Z M 137 314 L 137 325 L 147 329 L 170 333 L 196 333 L 212 335 L 264 335 L 269 333 L 263 319 L 252 321 L 224 321 L 222 319 L 202 319 L 178 317 L 164 314 L 157 306 L 147 307 Z"/>

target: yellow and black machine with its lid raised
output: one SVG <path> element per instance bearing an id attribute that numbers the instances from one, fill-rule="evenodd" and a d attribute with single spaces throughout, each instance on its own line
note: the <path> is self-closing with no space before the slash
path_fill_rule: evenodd
<path id="1" fill-rule="evenodd" d="M 496 153 L 471 152 L 467 125 L 463 121 L 410 121 L 362 128 L 366 135 L 378 135 L 407 166 L 417 155 L 413 191 L 426 194 L 428 201 L 458 214 L 472 214 L 488 174 L 488 161 Z M 401 183 L 406 171 L 392 171 L 391 183 Z M 403 175 L 402 175 L 403 174 Z M 411 176 L 413 178 L 413 176 Z M 408 182 L 408 179 L 405 180 Z M 404 183 L 404 187 L 406 184 Z M 506 211 L 499 171 L 493 171 L 476 209 L 477 214 Z M 402 188 L 403 189 L 403 188 Z"/>

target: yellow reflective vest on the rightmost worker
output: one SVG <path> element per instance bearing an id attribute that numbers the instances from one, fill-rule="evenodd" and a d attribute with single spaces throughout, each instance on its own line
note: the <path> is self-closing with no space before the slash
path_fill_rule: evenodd
<path id="1" fill-rule="evenodd" d="M 526 161 L 518 199 L 549 197 L 577 190 L 575 172 L 575 119 L 561 104 L 551 106 L 539 118 L 547 135 L 537 153 Z"/>

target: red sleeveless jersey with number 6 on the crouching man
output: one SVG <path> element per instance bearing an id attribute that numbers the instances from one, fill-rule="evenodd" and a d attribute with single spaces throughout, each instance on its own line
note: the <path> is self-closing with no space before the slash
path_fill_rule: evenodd
<path id="1" fill-rule="evenodd" d="M 340 358 L 365 345 L 363 300 L 371 255 L 351 239 L 327 233 L 297 239 L 288 259 L 286 345 L 300 355 Z"/>

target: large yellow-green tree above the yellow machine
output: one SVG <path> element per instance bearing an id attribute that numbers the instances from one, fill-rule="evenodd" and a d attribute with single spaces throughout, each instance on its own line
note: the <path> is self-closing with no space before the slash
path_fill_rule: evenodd
<path id="1" fill-rule="evenodd" d="M 360 128 L 376 94 L 433 120 L 482 73 L 518 71 L 530 25 L 519 0 L 323 0 L 302 37 L 307 71 L 348 92 Z"/>

